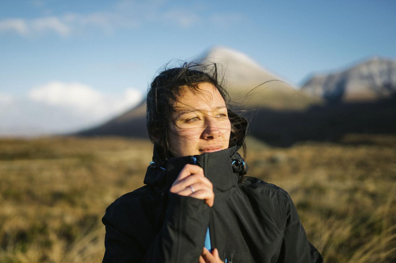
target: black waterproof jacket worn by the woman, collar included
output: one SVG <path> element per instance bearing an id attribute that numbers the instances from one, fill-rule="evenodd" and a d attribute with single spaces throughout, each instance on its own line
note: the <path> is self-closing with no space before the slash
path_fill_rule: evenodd
<path id="1" fill-rule="evenodd" d="M 213 183 L 213 207 L 169 192 L 192 156 L 162 162 L 155 152 L 146 185 L 106 209 L 103 262 L 196 263 L 208 225 L 223 261 L 323 262 L 286 191 L 254 177 L 241 182 L 246 165 L 236 147 L 194 156 Z"/>

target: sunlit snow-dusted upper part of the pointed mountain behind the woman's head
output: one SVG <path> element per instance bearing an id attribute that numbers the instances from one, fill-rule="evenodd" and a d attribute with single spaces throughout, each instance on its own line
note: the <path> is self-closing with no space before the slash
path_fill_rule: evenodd
<path id="1" fill-rule="evenodd" d="M 216 63 L 232 100 L 245 107 L 302 110 L 320 103 L 316 96 L 301 92 L 239 51 L 212 47 L 197 61 L 204 65 Z"/>

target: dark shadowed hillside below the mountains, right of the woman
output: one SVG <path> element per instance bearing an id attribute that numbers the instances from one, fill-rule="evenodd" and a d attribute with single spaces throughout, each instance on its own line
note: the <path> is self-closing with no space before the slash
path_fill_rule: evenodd
<path id="1" fill-rule="evenodd" d="M 263 108 L 251 115 L 249 127 L 249 134 L 274 146 L 337 142 L 347 133 L 396 134 L 396 94 L 378 101 L 313 106 L 303 112 Z"/>

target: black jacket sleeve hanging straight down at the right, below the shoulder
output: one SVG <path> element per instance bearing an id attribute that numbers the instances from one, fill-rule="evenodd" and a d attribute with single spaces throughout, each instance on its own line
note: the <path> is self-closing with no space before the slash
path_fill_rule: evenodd
<path id="1" fill-rule="evenodd" d="M 281 188 L 279 192 L 281 209 L 284 213 L 285 230 L 278 262 L 323 263 L 322 255 L 308 241 L 289 194 Z"/>

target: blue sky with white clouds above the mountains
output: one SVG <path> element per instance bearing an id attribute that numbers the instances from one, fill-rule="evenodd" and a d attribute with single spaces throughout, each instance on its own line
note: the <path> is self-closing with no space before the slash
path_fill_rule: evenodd
<path id="1" fill-rule="evenodd" d="M 371 56 L 396 58 L 394 0 L 3 0 L 0 7 L 4 134 L 22 122 L 25 131 L 65 131 L 103 121 L 140 99 L 166 62 L 213 45 L 245 53 L 293 85 Z M 96 100 L 88 107 L 79 92 Z M 47 111 L 52 126 L 40 123 Z M 58 123 L 62 116 L 69 124 Z"/>

